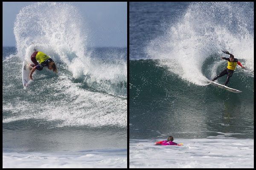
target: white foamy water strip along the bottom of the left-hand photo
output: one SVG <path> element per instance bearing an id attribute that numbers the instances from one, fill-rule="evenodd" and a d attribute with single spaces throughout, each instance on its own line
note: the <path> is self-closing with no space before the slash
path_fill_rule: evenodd
<path id="1" fill-rule="evenodd" d="M 127 168 L 127 150 L 3 153 L 3 168 Z"/>

